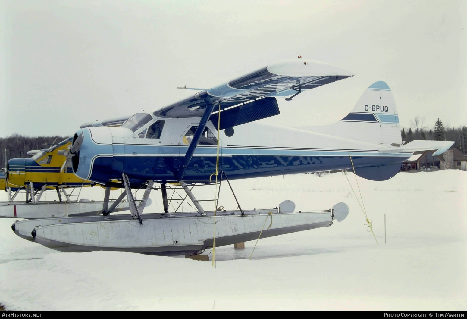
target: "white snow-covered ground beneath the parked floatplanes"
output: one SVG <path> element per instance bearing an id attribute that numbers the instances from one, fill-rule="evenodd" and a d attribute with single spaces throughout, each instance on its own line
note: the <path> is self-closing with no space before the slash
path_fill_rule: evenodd
<path id="1" fill-rule="evenodd" d="M 354 175 L 348 177 L 358 194 Z M 467 173 L 358 180 L 378 244 L 342 173 L 232 181 L 244 209 L 291 199 L 302 211 L 342 201 L 350 213 L 331 227 L 260 239 L 251 260 L 255 241 L 245 249 L 220 247 L 216 269 L 183 257 L 61 253 L 16 236 L 15 219 L 0 219 L 0 304 L 8 310 L 465 310 Z M 227 188 L 222 185 L 219 205 L 234 209 Z M 213 187 L 199 189 L 198 199 L 212 198 Z M 145 213 L 162 207 L 160 192 L 151 196 Z M 98 200 L 103 190 L 87 188 L 82 197 Z"/>

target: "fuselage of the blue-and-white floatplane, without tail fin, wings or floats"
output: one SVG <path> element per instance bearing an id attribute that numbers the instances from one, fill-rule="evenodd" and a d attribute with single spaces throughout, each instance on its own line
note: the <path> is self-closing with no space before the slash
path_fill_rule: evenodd
<path id="1" fill-rule="evenodd" d="M 199 118 L 149 116 L 152 119 L 134 131 L 125 127 L 79 130 L 75 136 L 82 132 L 84 142 L 73 160 L 75 173 L 100 184 L 121 179 L 122 173 L 134 186 L 149 179 L 177 182 L 177 172 Z M 160 127 L 162 121 L 163 128 L 156 134 L 160 135 L 149 135 L 154 131 L 151 126 L 158 122 Z M 208 122 L 184 181 L 209 182 L 216 171 L 217 134 L 213 123 Z M 219 172 L 222 170 L 234 179 L 352 169 L 352 156 L 355 169 L 385 167 L 390 178 L 410 155 L 380 153 L 379 147 L 322 133 L 247 123 L 235 127 L 234 132 L 219 132 Z"/>

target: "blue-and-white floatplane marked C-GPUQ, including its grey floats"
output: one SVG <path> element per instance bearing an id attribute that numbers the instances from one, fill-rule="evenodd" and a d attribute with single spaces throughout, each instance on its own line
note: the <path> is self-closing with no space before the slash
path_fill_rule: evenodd
<path id="1" fill-rule="evenodd" d="M 329 64 L 286 60 L 153 113 L 136 113 L 118 128 L 82 128 L 73 137 L 79 147 L 69 156 L 73 171 L 106 187 L 125 187 L 131 216 L 43 220 L 35 223 L 40 227 L 20 222 L 14 225 L 16 232 L 30 237 L 27 233 L 34 228 L 36 242 L 62 251 L 196 255 L 206 248 L 255 240 L 259 234 L 263 238 L 343 220 L 348 213 L 344 203 L 308 213 L 296 213 L 293 204 L 284 203 L 269 210 L 247 211 L 239 205 L 240 211 L 217 211 L 215 206 L 205 212 L 188 186 L 325 170 L 385 180 L 414 151 L 438 149 L 435 154 L 440 154 L 452 145 L 403 145 L 394 98 L 382 81 L 370 85 L 354 109 L 333 125 L 304 131 L 256 122 L 279 115 L 277 98 L 290 101 L 303 91 L 352 76 Z M 141 214 L 132 204 L 131 189 L 145 187 L 146 196 L 154 182 L 161 184 L 164 212 Z M 179 183 L 198 212 L 169 213 L 167 183 Z M 263 229 L 269 218 L 269 227 Z"/>

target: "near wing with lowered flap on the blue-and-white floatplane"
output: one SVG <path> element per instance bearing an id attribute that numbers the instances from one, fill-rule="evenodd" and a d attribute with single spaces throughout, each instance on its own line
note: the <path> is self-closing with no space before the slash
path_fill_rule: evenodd
<path id="1" fill-rule="evenodd" d="M 302 58 L 285 60 L 164 106 L 154 115 L 168 118 L 201 117 L 207 105 L 216 106 L 214 113 L 219 110 L 217 106 L 220 103 L 221 110 L 240 106 L 238 110 L 230 111 L 227 117 L 227 113 L 221 113 L 221 119 L 230 119 L 229 123 L 221 126 L 243 124 L 279 114 L 276 97 L 288 97 L 352 76 L 354 74 L 349 71 L 330 64 Z M 243 106 L 248 107 L 243 110 Z M 241 116 L 239 110 L 243 110 Z M 217 114 L 215 116 L 217 118 Z M 217 121 L 213 122 L 217 125 Z"/>

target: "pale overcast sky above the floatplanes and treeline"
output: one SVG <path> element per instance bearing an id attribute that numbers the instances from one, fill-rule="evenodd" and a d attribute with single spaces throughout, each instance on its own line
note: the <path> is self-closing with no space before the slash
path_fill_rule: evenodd
<path id="1" fill-rule="evenodd" d="M 356 76 L 264 121 L 338 121 L 383 80 L 402 126 L 467 125 L 466 2 L 0 0 L 0 136 L 72 135 L 297 55 Z"/>

